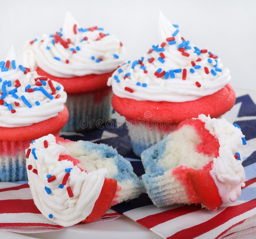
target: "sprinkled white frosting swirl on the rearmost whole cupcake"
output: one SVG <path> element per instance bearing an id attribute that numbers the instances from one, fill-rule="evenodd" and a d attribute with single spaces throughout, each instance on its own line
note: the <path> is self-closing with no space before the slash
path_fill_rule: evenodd
<path id="1" fill-rule="evenodd" d="M 58 43 L 54 35 L 61 39 Z M 103 28 L 81 28 L 70 12 L 59 33 L 44 34 L 33 44 L 27 41 L 20 52 L 25 66 L 34 70 L 39 66 L 53 76 L 65 78 L 111 72 L 124 62 L 125 56 L 125 49 L 115 35 L 105 34 Z"/>

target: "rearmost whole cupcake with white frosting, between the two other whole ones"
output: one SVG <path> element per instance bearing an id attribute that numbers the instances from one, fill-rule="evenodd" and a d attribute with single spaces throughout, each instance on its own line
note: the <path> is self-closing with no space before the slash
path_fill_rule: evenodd
<path id="1" fill-rule="evenodd" d="M 90 130 L 111 118 L 107 80 L 125 55 L 115 35 L 80 27 L 70 12 L 59 31 L 28 41 L 20 52 L 25 66 L 64 86 L 69 119 L 63 131 Z"/>

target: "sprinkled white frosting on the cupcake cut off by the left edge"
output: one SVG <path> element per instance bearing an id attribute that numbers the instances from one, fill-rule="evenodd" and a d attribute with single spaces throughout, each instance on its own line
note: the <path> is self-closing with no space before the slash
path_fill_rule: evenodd
<path id="1" fill-rule="evenodd" d="M 10 61 L 9 69 L 8 71 L 0 71 L 0 93 L 3 93 L 0 98 L 2 101 L 0 102 L 1 127 L 28 126 L 55 117 L 63 111 L 67 93 L 63 91 L 62 85 L 55 81 L 49 81 L 48 78 L 40 81 L 37 79 L 40 76 L 37 75 L 36 71 L 23 72 L 20 69 L 23 66 L 19 66 L 16 61 L 15 68 L 12 65 L 12 60 L 16 59 L 13 47 L 6 59 Z M 3 69 L 3 67 L 1 68 Z M 7 83 L 8 81 L 9 83 Z M 55 89 L 57 87 L 55 93 L 52 92 L 49 85 L 51 82 Z M 37 86 L 36 84 L 42 85 Z M 34 89 L 34 91 L 28 92 L 27 87 L 30 90 Z M 17 92 L 12 94 L 13 91 L 16 91 L 15 89 Z M 47 92 L 48 96 L 40 89 Z M 4 92 L 6 92 L 5 97 Z M 28 105 L 24 102 L 24 97 L 28 101 Z"/>

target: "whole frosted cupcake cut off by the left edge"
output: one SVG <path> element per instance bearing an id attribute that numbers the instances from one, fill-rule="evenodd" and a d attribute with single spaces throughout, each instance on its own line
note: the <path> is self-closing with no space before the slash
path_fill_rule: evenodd
<path id="1" fill-rule="evenodd" d="M 0 62 L 0 182 L 27 180 L 32 140 L 58 136 L 68 121 L 63 86 L 16 62 L 13 47 Z"/>

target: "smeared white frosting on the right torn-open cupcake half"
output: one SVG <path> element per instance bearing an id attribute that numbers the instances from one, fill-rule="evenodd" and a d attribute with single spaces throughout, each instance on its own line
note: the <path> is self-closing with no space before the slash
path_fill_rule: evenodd
<path id="1" fill-rule="evenodd" d="M 245 172 L 242 166 L 244 135 L 239 128 L 224 118 L 211 119 L 205 115 L 199 115 L 198 118 L 205 122 L 205 129 L 219 140 L 219 157 L 213 159 L 210 174 L 219 190 L 221 200 L 224 203 L 229 200 L 234 202 L 241 195 L 241 187 L 245 186 Z M 241 160 L 234 157 L 236 153 L 240 154 Z"/>

